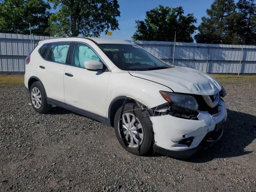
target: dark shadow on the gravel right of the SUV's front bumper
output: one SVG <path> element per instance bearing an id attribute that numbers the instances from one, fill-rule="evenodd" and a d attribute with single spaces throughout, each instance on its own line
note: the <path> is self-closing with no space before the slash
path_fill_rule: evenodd
<path id="1" fill-rule="evenodd" d="M 249 154 L 246 150 L 256 138 L 256 116 L 228 110 L 222 138 L 212 147 L 199 151 L 195 156 L 181 159 L 187 162 L 208 162 L 214 158 L 230 158 Z"/>

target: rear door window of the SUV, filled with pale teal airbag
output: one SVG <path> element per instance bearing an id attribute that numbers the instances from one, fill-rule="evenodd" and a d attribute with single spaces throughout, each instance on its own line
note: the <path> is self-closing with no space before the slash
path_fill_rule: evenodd
<path id="1" fill-rule="evenodd" d="M 48 54 L 48 60 L 58 63 L 66 63 L 69 46 L 70 43 L 51 44 Z"/>

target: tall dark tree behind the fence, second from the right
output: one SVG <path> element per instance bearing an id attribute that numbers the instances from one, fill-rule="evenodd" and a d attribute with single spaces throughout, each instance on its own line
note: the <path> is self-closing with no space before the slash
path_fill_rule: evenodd
<path id="1" fill-rule="evenodd" d="M 202 17 L 202 23 L 198 26 L 196 42 L 231 43 L 238 38 L 233 31 L 237 28 L 234 20 L 239 20 L 240 15 L 236 12 L 234 0 L 215 0 L 206 13 L 208 17 Z"/>

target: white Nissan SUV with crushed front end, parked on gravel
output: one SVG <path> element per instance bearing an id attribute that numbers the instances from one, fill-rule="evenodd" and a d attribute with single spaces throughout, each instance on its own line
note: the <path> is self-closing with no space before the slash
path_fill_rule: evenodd
<path id="1" fill-rule="evenodd" d="M 123 148 L 186 158 L 220 139 L 226 92 L 212 76 L 103 38 L 44 40 L 26 58 L 34 110 L 66 108 L 115 128 Z"/>

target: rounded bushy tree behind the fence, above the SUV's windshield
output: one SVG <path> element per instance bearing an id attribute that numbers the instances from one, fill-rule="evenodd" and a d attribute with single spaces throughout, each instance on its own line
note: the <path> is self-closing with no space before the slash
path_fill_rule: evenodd
<path id="1" fill-rule="evenodd" d="M 144 21 L 136 20 L 134 40 L 174 41 L 176 31 L 180 42 L 193 42 L 196 18 L 193 14 L 184 16 L 182 7 L 171 8 L 159 5 L 146 12 Z"/>

